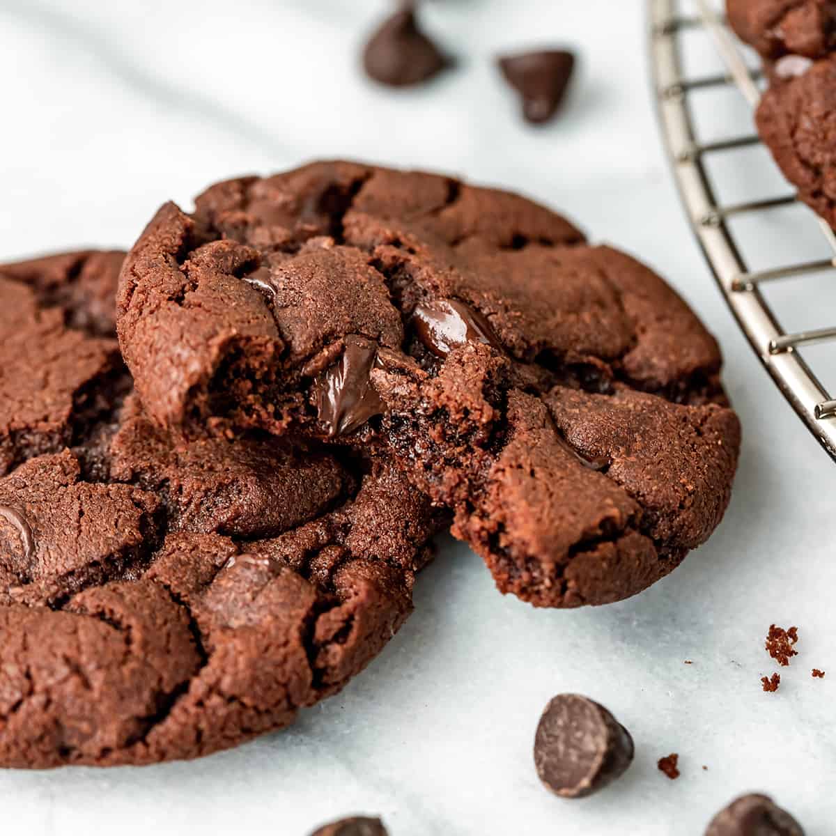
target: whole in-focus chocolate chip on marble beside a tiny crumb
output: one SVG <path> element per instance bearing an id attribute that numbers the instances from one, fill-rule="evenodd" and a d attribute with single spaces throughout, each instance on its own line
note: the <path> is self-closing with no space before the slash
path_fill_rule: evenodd
<path id="1" fill-rule="evenodd" d="M 534 737 L 540 780 L 563 798 L 596 793 L 633 761 L 633 738 L 604 706 L 578 694 L 558 694 Z"/>

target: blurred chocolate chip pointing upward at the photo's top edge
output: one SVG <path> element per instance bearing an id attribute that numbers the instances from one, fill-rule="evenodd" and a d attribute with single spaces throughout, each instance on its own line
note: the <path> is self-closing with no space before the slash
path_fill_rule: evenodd
<path id="1" fill-rule="evenodd" d="M 385 20 L 363 53 L 366 73 L 390 87 L 421 84 L 449 63 L 436 44 L 418 28 L 412 3 Z"/>

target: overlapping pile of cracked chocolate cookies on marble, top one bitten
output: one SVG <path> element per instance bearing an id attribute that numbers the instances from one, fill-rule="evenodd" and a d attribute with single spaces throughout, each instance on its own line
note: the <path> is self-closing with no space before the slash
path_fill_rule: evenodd
<path id="1" fill-rule="evenodd" d="M 729 500 L 715 340 L 507 192 L 315 163 L 0 294 L 3 766 L 286 726 L 395 634 L 443 528 L 576 607 L 669 573 Z"/>

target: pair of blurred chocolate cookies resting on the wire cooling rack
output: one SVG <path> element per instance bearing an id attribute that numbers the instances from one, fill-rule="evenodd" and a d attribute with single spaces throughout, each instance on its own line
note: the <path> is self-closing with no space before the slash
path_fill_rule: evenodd
<path id="1" fill-rule="evenodd" d="M 726 2 L 732 28 L 767 69 L 757 109 L 762 140 L 799 199 L 836 227 L 836 3 Z"/>

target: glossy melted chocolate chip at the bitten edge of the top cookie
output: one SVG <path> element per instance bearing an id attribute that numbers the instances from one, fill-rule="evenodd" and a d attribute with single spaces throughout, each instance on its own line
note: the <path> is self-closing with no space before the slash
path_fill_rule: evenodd
<path id="1" fill-rule="evenodd" d="M 319 377 L 315 386 L 319 422 L 332 438 L 354 432 L 385 411 L 369 376 L 376 361 L 376 343 L 348 336 L 339 360 Z"/>

